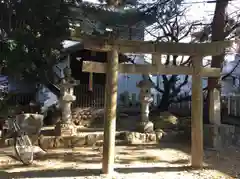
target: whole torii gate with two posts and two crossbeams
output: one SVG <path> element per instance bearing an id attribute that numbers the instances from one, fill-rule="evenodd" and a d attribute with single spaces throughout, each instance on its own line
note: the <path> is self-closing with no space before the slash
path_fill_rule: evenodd
<path id="1" fill-rule="evenodd" d="M 106 73 L 102 161 L 102 172 L 104 174 L 111 174 L 114 170 L 118 73 L 192 75 L 191 164 L 193 167 L 202 167 L 204 154 L 202 77 L 219 77 L 221 72 L 219 68 L 203 68 L 202 58 L 222 54 L 225 48 L 231 45 L 230 41 L 191 44 L 155 43 L 104 39 L 93 36 L 77 37 L 76 33 L 72 35 L 72 40 L 82 42 L 85 49 L 108 52 L 107 63 L 83 62 L 83 71 L 85 72 Z M 153 64 L 119 64 L 119 52 L 152 54 Z M 156 60 L 161 54 L 192 56 L 192 66 L 164 66 Z M 214 115 L 220 116 L 213 109 L 210 109 L 210 116 L 216 118 Z"/>

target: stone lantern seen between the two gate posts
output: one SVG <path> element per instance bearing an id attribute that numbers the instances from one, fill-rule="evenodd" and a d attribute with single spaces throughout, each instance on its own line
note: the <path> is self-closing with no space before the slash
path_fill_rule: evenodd
<path id="1" fill-rule="evenodd" d="M 153 84 L 148 79 L 141 80 L 137 87 L 140 88 L 140 104 L 141 104 L 141 121 L 139 123 L 139 132 L 153 132 L 154 126 L 151 121 L 149 121 L 149 106 L 153 101 L 151 95 L 151 88 Z"/>

